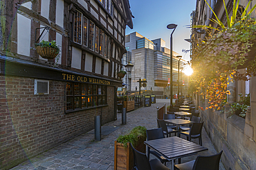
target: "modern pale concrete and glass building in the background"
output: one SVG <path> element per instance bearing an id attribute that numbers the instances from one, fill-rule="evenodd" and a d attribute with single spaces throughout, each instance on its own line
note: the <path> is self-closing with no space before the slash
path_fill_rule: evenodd
<path id="1" fill-rule="evenodd" d="M 165 41 L 163 41 L 163 39 L 150 41 L 138 32 L 133 32 L 126 35 L 125 47 L 128 52 L 131 52 L 131 59 L 127 59 L 125 55 L 123 61 L 130 60 L 134 65 L 129 78 L 124 78 L 124 82 L 127 83 L 129 83 L 129 79 L 131 80 L 128 89 L 135 91 L 137 87 L 138 90 L 139 83 L 137 81 L 139 78 L 147 79 L 147 87 L 141 87 L 142 90 L 163 92 L 164 89 L 170 89 L 170 84 L 168 83 L 168 78 L 170 78 L 170 49 L 165 47 Z M 172 52 L 172 54 L 173 94 L 176 94 L 178 93 L 179 63 L 179 58 L 176 56 L 179 56 L 180 54 L 176 52 Z M 181 59 L 180 68 L 185 67 L 183 64 L 186 63 L 185 60 Z M 185 74 L 182 74 L 181 78 L 184 80 L 183 89 L 186 89 L 186 92 L 188 92 L 188 78 L 186 78 Z"/>

